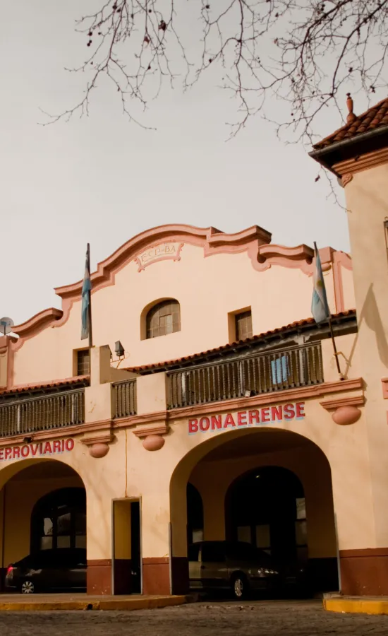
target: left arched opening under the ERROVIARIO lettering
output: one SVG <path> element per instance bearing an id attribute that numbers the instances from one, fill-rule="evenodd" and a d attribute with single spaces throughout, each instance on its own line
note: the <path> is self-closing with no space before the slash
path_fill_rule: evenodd
<path id="1" fill-rule="evenodd" d="M 19 589 L 30 568 L 42 571 L 35 591 L 85 591 L 86 493 L 78 473 L 58 460 L 26 460 L 0 478 L 1 589 Z"/>

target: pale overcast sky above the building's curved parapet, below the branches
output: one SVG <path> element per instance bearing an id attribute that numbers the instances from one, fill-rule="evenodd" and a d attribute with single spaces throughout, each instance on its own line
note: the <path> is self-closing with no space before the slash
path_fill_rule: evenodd
<path id="1" fill-rule="evenodd" d="M 157 131 L 129 124 L 104 85 L 89 118 L 39 125 L 40 108 L 60 112 L 81 94 L 83 78 L 63 67 L 85 54 L 73 33 L 83 6 L 20 0 L 1 8 L 0 315 L 19 324 L 60 307 L 53 288 L 82 278 L 87 242 L 94 270 L 133 235 L 164 223 L 225 232 L 256 224 L 275 243 L 316 240 L 348 251 L 346 213 L 327 201 L 325 179 L 315 183 L 307 148 L 285 146 L 260 117 L 226 141 L 236 103 L 217 78 L 186 94 L 164 90 L 144 119 Z M 322 136 L 340 125 L 327 112 Z"/>

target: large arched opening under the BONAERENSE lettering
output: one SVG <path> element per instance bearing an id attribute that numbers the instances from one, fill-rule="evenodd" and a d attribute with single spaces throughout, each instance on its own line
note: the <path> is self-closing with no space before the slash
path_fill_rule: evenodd
<path id="1" fill-rule="evenodd" d="M 212 436 L 176 466 L 170 496 L 174 591 L 185 589 L 183 572 L 189 576 L 183 560 L 194 538 L 198 497 L 203 541 L 250 543 L 287 572 L 291 565 L 308 572 L 311 592 L 339 589 L 331 470 L 307 437 L 270 427 Z"/>

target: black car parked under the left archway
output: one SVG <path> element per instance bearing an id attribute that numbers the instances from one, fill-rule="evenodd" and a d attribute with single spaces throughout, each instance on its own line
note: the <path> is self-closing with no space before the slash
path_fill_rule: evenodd
<path id="1" fill-rule="evenodd" d="M 30 554 L 8 565 L 6 588 L 21 594 L 36 591 L 86 590 L 86 550 L 61 548 Z"/>

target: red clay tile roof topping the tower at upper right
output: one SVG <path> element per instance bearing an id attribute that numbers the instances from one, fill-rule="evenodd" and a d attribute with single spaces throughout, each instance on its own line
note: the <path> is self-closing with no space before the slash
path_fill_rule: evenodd
<path id="1" fill-rule="evenodd" d="M 356 137 L 382 126 L 388 126 L 388 98 L 372 106 L 363 114 L 358 115 L 356 119 L 353 119 L 353 122 L 348 122 L 319 143 L 315 143 L 313 148 L 314 150 L 321 150 L 322 148 L 327 148 L 327 146 L 332 146 L 337 141 L 351 139 L 351 137 Z"/>

